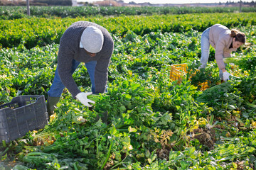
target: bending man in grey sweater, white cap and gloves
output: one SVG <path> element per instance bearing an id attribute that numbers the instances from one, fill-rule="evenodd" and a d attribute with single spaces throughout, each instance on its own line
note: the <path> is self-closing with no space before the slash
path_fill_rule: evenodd
<path id="1" fill-rule="evenodd" d="M 87 96 L 105 92 L 113 48 L 114 42 L 110 33 L 95 23 L 78 21 L 65 30 L 60 38 L 55 77 L 48 91 L 47 110 L 49 115 L 53 114 L 65 87 L 73 98 L 78 98 L 83 105 L 90 107 L 90 103 L 95 103 L 87 99 Z M 80 62 L 85 62 L 90 75 L 92 92 L 81 92 L 72 77 Z"/>

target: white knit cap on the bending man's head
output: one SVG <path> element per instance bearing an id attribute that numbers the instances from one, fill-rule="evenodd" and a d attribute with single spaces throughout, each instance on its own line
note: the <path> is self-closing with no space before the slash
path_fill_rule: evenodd
<path id="1" fill-rule="evenodd" d="M 94 26 L 89 26 L 82 33 L 80 47 L 85 48 L 87 52 L 97 53 L 102 50 L 103 41 L 101 30 Z"/>

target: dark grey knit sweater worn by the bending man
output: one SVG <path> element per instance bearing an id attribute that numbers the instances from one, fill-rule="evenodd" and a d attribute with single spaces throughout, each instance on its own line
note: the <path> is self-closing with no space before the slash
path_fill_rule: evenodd
<path id="1" fill-rule="evenodd" d="M 95 26 L 99 28 L 104 36 L 102 50 L 97 52 L 95 57 L 90 57 L 85 52 L 84 48 L 80 48 L 80 38 L 83 30 L 88 26 Z M 81 91 L 78 89 L 77 84 L 70 73 L 72 68 L 72 61 L 90 62 L 96 60 L 95 67 L 95 93 L 105 92 L 107 85 L 107 72 L 110 64 L 110 59 L 114 49 L 114 41 L 110 33 L 95 23 L 87 21 L 78 21 L 73 23 L 63 36 L 60 38 L 60 47 L 58 51 L 58 74 L 64 86 L 70 91 L 73 98 Z"/>

